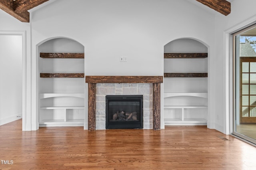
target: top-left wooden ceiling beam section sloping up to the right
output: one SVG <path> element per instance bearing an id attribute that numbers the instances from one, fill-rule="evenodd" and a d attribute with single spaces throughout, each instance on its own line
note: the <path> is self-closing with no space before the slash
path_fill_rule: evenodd
<path id="1" fill-rule="evenodd" d="M 17 13 L 28 11 L 48 0 L 16 0 L 13 2 L 14 11 Z"/>

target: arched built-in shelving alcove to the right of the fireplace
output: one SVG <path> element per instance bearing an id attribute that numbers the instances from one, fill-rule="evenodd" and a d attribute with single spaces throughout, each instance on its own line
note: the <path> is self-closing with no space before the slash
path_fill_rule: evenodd
<path id="1" fill-rule="evenodd" d="M 208 48 L 192 39 L 164 46 L 165 125 L 206 125 Z"/>

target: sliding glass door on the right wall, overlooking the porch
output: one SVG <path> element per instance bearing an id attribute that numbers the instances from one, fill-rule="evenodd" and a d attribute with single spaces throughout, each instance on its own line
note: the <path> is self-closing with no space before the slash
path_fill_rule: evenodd
<path id="1" fill-rule="evenodd" d="M 256 144 L 256 25 L 234 34 L 234 131 Z"/>

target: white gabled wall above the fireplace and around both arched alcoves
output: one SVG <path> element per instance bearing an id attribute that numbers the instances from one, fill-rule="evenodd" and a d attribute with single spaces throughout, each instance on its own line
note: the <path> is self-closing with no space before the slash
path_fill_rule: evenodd
<path id="1" fill-rule="evenodd" d="M 84 45 L 85 75 L 163 75 L 164 45 L 178 38 L 204 43 L 214 60 L 214 15 L 186 0 L 57 0 L 32 12 L 31 23 L 32 101 L 38 91 L 36 45 L 53 37 Z M 120 56 L 127 62 L 120 63 Z M 32 102 L 33 114 L 36 107 Z"/>

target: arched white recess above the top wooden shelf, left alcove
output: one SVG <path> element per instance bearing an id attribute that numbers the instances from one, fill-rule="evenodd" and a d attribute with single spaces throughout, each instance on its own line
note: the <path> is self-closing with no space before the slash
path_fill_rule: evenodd
<path id="1" fill-rule="evenodd" d="M 84 45 L 70 38 L 52 38 L 41 42 L 38 51 L 44 53 L 84 53 Z"/>

